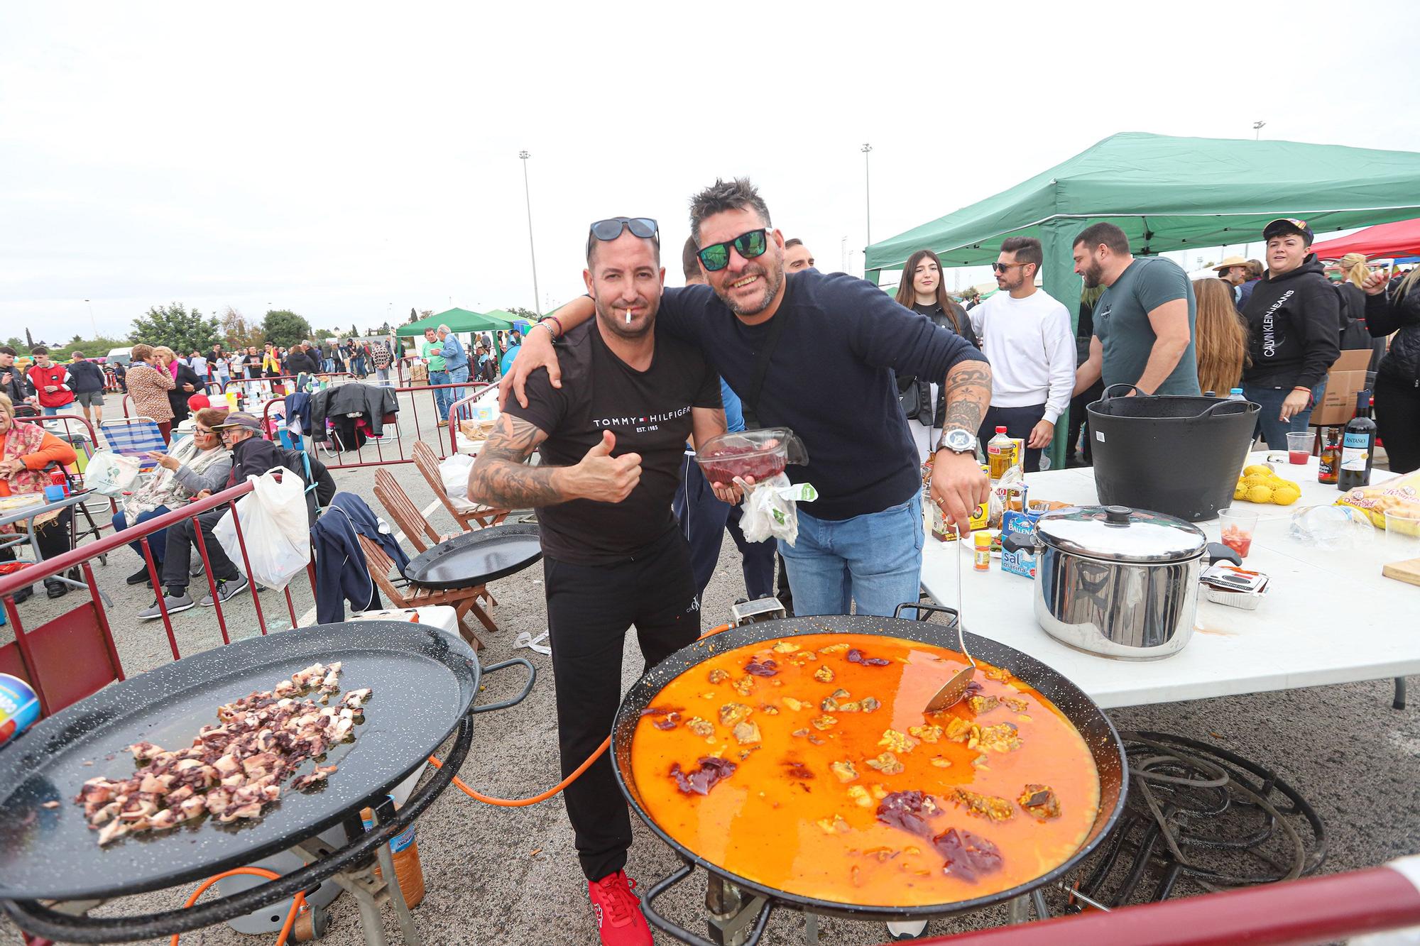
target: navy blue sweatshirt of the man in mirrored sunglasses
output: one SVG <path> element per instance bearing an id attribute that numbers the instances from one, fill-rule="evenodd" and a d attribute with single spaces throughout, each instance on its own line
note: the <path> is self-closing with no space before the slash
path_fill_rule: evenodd
<path id="1" fill-rule="evenodd" d="M 808 466 L 787 469 L 819 493 L 804 511 L 843 520 L 907 501 L 922 472 L 893 372 L 940 382 L 957 362 L 985 358 L 865 280 L 799 270 L 785 283 L 780 308 L 761 325 L 741 322 L 709 286 L 667 288 L 656 318 L 696 344 L 741 398 L 770 325 L 787 318 L 757 415 L 764 426 L 792 429 L 808 449 Z"/>

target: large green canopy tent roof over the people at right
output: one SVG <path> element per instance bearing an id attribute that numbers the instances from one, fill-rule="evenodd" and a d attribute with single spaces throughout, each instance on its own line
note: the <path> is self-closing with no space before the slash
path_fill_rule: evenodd
<path id="1" fill-rule="evenodd" d="M 866 249 L 868 278 L 929 249 L 944 267 L 995 261 L 1001 240 L 1034 236 L 1047 293 L 1075 310 L 1081 281 L 1071 244 L 1108 220 L 1136 256 L 1262 239 L 1277 217 L 1318 234 L 1417 216 L 1420 153 L 1287 141 L 1112 135 L 1069 161 Z M 1064 459 L 1065 437 L 1052 457 Z"/>

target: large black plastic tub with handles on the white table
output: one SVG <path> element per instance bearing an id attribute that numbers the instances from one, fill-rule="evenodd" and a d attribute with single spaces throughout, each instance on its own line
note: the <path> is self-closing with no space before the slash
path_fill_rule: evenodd
<path id="1" fill-rule="evenodd" d="M 1250 401 L 1218 398 L 1105 396 L 1085 408 L 1102 506 L 1129 506 L 1197 523 L 1233 501 L 1252 446 L 1257 412 Z"/>

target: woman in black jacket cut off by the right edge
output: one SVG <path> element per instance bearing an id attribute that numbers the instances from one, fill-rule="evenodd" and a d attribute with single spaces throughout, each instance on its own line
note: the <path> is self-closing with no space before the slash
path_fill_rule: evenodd
<path id="1" fill-rule="evenodd" d="M 1390 339 L 1376 369 L 1376 433 L 1393 473 L 1420 470 L 1420 267 L 1393 287 L 1375 273 L 1366 291 L 1366 331 Z"/>

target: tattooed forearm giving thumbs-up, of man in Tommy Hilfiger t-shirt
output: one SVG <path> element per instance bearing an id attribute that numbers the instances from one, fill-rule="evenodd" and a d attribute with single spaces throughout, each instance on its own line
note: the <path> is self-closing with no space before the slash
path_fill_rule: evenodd
<path id="1" fill-rule="evenodd" d="M 469 499 L 498 509 L 555 506 L 574 499 L 619 503 L 640 482 L 640 455 L 611 456 L 611 430 L 575 466 L 527 466 L 547 432 L 511 413 L 498 418 L 469 472 Z"/>

